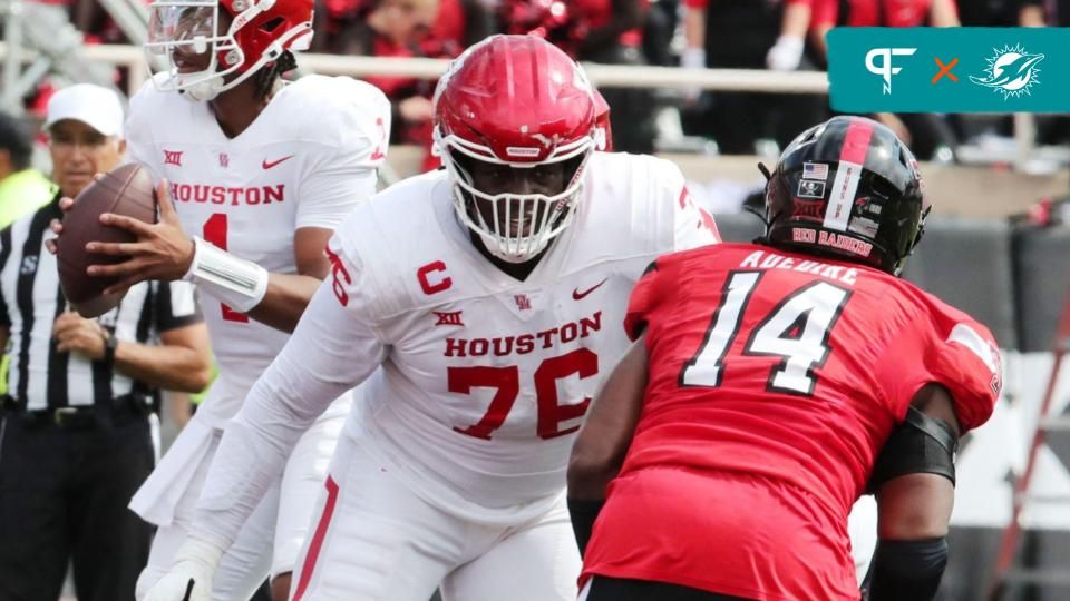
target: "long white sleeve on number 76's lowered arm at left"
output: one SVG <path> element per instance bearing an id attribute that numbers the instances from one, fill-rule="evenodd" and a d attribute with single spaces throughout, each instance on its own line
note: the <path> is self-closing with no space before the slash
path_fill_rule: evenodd
<path id="1" fill-rule="evenodd" d="M 335 397 L 386 356 L 373 327 L 343 307 L 328 278 L 290 341 L 250 391 L 208 470 L 192 534 L 226 549 L 273 482 L 298 439 Z"/>

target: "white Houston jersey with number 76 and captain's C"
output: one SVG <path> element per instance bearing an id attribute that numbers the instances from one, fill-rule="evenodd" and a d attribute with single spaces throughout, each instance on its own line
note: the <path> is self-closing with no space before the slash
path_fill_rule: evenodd
<path id="1" fill-rule="evenodd" d="M 361 204 L 329 245 L 332 278 L 227 425 L 194 535 L 228 545 L 305 428 L 366 378 L 344 434 L 428 503 L 487 524 L 547 511 L 630 344 L 632 285 L 659 255 L 718 239 L 671 162 L 595 154 L 584 181 L 524 282 L 473 246 L 446 171 Z"/>

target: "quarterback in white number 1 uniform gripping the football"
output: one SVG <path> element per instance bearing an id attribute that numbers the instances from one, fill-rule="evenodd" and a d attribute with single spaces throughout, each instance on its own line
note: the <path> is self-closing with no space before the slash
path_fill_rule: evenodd
<path id="1" fill-rule="evenodd" d="M 390 126 L 383 95 L 350 78 L 309 76 L 290 85 L 279 78 L 295 66 L 292 52 L 308 48 L 312 7 L 312 0 L 150 7 L 146 50 L 169 69 L 132 99 L 127 131 L 132 158 L 166 180 L 158 189 L 160 223 L 105 216 L 138 242 L 91 243 L 89 252 L 130 258 L 90 274 L 120 276 L 118 289 L 143 279 L 195 282 L 220 376 L 130 503 L 159 526 L 139 599 L 183 559 L 176 552 L 223 428 L 329 274 L 323 248 L 331 233 L 376 190 Z M 350 395 L 334 396 L 298 443 L 282 493 L 276 485 L 245 508 L 252 519 L 220 550 L 213 599 L 247 599 L 269 571 L 283 574 L 274 588 L 285 598 L 348 414 Z"/>

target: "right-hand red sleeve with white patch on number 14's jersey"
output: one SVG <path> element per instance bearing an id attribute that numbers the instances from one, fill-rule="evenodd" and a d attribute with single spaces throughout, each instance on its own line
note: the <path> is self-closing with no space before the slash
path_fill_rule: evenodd
<path id="1" fill-rule="evenodd" d="M 964 434 L 988 421 L 995 407 L 1003 383 L 1000 351 L 986 327 L 936 303 L 895 338 L 877 381 L 897 420 L 922 386 L 931 382 L 945 386 Z"/>

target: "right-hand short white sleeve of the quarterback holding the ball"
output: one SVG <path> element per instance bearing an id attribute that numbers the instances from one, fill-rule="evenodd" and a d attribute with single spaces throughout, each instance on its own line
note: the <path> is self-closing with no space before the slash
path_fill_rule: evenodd
<path id="1" fill-rule="evenodd" d="M 347 99 L 332 111 L 329 122 L 320 124 L 334 129 L 338 146 L 323 148 L 302 178 L 298 228 L 334 229 L 357 203 L 376 194 L 378 170 L 390 141 L 390 102 L 369 83 L 346 83 L 352 85 L 343 87 Z"/>

